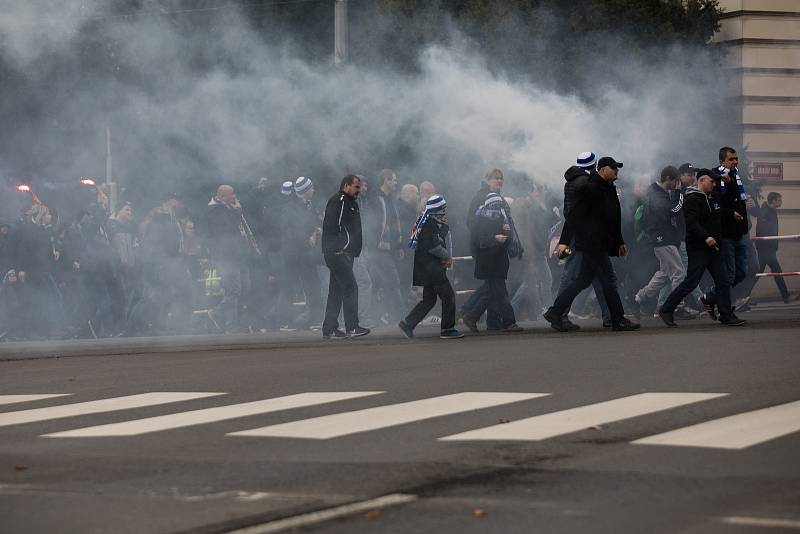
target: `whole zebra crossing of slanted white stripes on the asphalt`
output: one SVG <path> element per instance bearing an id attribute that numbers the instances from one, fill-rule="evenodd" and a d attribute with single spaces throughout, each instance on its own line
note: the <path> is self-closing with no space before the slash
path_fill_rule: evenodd
<path id="1" fill-rule="evenodd" d="M 331 440 L 389 427 L 410 425 L 433 418 L 478 412 L 512 403 L 536 401 L 557 393 L 461 392 L 401 403 L 382 403 L 360 410 L 339 411 L 337 402 L 374 398 L 380 403 L 384 391 L 301 392 L 281 397 L 211 408 L 173 411 L 165 415 L 124 419 L 109 424 L 79 426 L 69 430 L 40 435 L 58 438 L 132 437 L 154 432 L 176 430 L 197 425 L 289 411 L 312 406 L 331 406 L 329 415 L 290 420 L 286 423 L 242 429 L 225 434 L 234 438 L 291 438 Z M 0 405 L 24 404 L 67 397 L 69 393 L 35 393 L 0 395 Z M 173 405 L 175 403 L 221 397 L 223 392 L 148 392 L 86 402 L 68 402 L 41 408 L 0 412 L 0 427 L 26 425 L 57 419 L 78 418 L 99 413 L 134 408 Z M 666 410 L 730 397 L 728 393 L 647 392 L 604 400 L 593 404 L 533 415 L 513 422 L 482 426 L 457 434 L 445 435 L 437 441 L 538 442 L 580 432 L 598 425 L 608 425 L 632 418 L 645 417 Z M 220 399 L 221 400 L 221 399 Z M 214 401 L 217 402 L 217 401 Z M 374 401 L 371 401 L 374 402 Z M 531 406 L 534 406 L 532 404 Z M 523 405 L 527 408 L 527 404 Z M 15 406 L 16 407 L 16 406 Z M 520 406 L 515 408 L 517 411 Z M 0 430 L 2 430 L 0 428 Z M 800 400 L 754 411 L 673 428 L 666 432 L 631 441 L 634 446 L 698 447 L 741 450 L 789 434 L 800 432 Z"/>

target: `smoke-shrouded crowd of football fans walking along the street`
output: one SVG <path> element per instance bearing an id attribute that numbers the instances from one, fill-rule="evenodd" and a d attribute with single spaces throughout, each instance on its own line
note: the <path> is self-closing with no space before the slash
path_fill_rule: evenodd
<path id="1" fill-rule="evenodd" d="M 413 337 L 420 323 L 457 339 L 459 322 L 513 333 L 543 319 L 569 332 L 592 315 L 616 331 L 644 315 L 739 326 L 755 274 L 781 271 L 778 241 L 749 235 L 753 219 L 756 235 L 778 234 L 782 199 L 759 205 L 737 164 L 723 147 L 712 168 L 618 183 L 623 163 L 583 152 L 563 195 L 528 178 L 506 186 L 492 169 L 455 208 L 433 182 L 401 186 L 391 169 L 346 176 L 327 203 L 313 178 L 261 178 L 241 199 L 223 184 L 206 206 L 169 197 L 144 216 L 127 202 L 111 210 L 102 187 L 68 217 L 31 194 L 18 220 L 0 221 L 0 339 L 347 338 L 394 324 Z"/>

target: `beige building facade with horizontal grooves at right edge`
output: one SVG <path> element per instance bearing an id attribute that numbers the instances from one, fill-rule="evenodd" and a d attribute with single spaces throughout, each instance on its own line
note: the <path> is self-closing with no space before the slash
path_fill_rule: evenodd
<path id="1" fill-rule="evenodd" d="M 741 117 L 736 142 L 751 161 L 783 163 L 783 180 L 764 183 L 762 194 L 783 195 L 781 234 L 800 234 L 800 0 L 720 4 L 726 13 L 714 40 L 728 44 L 729 96 Z M 784 270 L 800 271 L 800 241 L 783 242 L 779 258 Z M 800 290 L 800 277 L 786 281 Z M 775 297 L 775 283 L 762 279 L 754 294 Z"/>

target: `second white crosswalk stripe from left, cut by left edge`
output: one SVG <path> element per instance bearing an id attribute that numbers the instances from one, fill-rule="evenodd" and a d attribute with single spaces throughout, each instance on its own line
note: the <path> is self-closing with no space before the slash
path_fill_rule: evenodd
<path id="1" fill-rule="evenodd" d="M 198 393 L 187 392 L 168 392 L 158 391 L 153 393 L 140 393 L 138 395 L 128 395 L 126 397 L 112 397 L 89 402 L 78 402 L 75 404 L 62 404 L 49 408 L 35 408 L 32 410 L 22 410 L 18 412 L 0 413 L 0 426 L 19 425 L 22 423 L 33 423 L 36 421 L 47 421 L 49 419 L 61 419 L 64 417 L 74 417 L 76 415 L 89 415 L 94 413 L 113 412 L 116 410 L 128 410 L 131 408 L 143 408 L 157 404 L 167 404 L 192 399 L 202 399 L 225 395 L 225 393 Z"/>

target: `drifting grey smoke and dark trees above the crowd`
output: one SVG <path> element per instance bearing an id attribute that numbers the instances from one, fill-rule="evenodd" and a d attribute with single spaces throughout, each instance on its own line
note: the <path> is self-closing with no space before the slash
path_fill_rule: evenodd
<path id="1" fill-rule="evenodd" d="M 560 190 L 583 150 L 632 180 L 730 142 L 716 19 L 686 2 L 352 0 L 344 66 L 333 0 L 246 4 L 0 0 L 3 195 L 32 181 L 57 204 L 102 180 L 106 127 L 144 210 L 383 167 L 456 196 L 495 166 Z"/>

